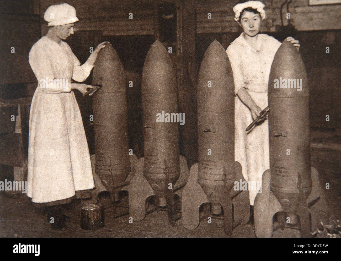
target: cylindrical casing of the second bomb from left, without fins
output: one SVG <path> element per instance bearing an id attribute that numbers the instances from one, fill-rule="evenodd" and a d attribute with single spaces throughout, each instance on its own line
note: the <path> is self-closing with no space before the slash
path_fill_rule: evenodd
<path id="1" fill-rule="evenodd" d="M 158 113 L 178 113 L 172 60 L 158 40 L 149 49 L 143 67 L 142 106 L 144 176 L 164 206 L 165 189 L 169 183 L 174 186 L 180 176 L 179 123 L 157 122 Z"/>

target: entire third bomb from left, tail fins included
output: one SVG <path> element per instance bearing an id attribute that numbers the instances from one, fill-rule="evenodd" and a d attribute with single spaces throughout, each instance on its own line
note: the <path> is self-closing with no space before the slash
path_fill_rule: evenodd
<path id="1" fill-rule="evenodd" d="M 207 48 L 200 66 L 197 108 L 198 163 L 191 167 L 182 191 L 182 223 L 195 229 L 200 205 L 210 203 L 213 215 L 223 209 L 224 231 L 231 235 L 234 227 L 249 219 L 249 193 L 234 186 L 235 181 L 245 182 L 241 165 L 234 160 L 234 81 L 227 54 L 217 40 Z"/>

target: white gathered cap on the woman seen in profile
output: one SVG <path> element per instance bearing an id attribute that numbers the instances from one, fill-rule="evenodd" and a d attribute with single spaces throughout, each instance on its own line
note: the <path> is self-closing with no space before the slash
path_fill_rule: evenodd
<path id="1" fill-rule="evenodd" d="M 45 13 L 44 20 L 47 26 L 67 25 L 78 21 L 76 10 L 67 3 L 50 5 Z"/>

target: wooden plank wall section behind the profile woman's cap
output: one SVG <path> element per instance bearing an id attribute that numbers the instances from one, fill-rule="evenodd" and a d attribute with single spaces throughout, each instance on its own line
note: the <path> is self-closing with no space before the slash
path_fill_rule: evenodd
<path id="1" fill-rule="evenodd" d="M 44 12 L 58 0 L 40 1 L 42 35 L 47 26 L 43 19 Z M 103 35 L 153 35 L 155 24 L 154 1 L 66 1 L 76 9 L 79 21 L 76 29 L 80 31 L 102 31 Z M 133 13 L 133 19 L 129 19 Z"/>

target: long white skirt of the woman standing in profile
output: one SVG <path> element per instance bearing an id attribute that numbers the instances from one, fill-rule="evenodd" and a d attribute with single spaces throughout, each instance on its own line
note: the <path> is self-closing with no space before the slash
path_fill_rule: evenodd
<path id="1" fill-rule="evenodd" d="M 73 91 L 39 87 L 30 110 L 27 196 L 44 203 L 94 188 L 89 149 Z"/>

